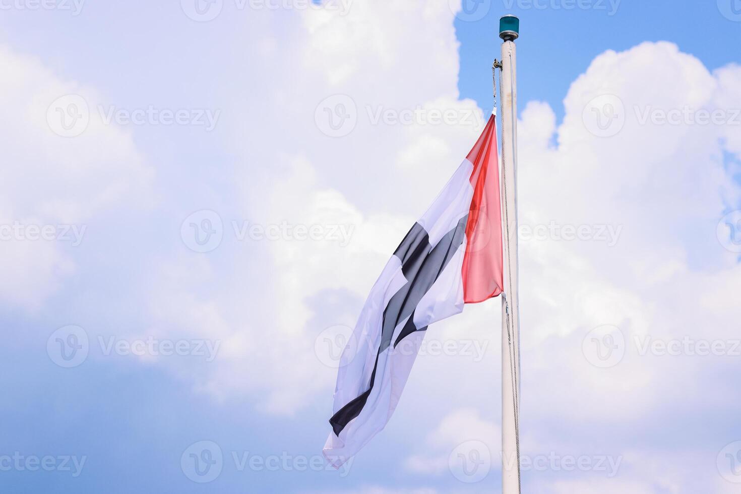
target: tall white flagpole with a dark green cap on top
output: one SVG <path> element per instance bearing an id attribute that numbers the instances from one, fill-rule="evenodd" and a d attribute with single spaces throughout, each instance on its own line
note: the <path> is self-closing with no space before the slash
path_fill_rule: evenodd
<path id="1" fill-rule="evenodd" d="M 502 296 L 502 494 L 520 494 L 519 465 L 519 298 L 517 292 L 517 86 L 519 19 L 499 20 L 502 61 L 502 225 L 504 293 Z"/>

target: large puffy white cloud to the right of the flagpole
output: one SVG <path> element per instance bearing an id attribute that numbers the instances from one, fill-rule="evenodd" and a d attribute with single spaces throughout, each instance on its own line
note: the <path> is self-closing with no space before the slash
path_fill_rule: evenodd
<path id="1" fill-rule="evenodd" d="M 542 238 L 520 244 L 523 453 L 625 455 L 616 478 L 585 472 L 564 480 L 551 473 L 533 480 L 539 492 L 679 493 L 703 485 L 724 492 L 714 465 L 722 438 L 708 435 L 671 450 L 661 446 L 667 439 L 657 435 L 657 424 L 665 417 L 702 421 L 700 404 L 708 401 L 738 407 L 714 382 L 724 379 L 721 370 L 725 378 L 734 375 L 728 366 L 740 267 L 715 230 L 725 212 L 739 207 L 739 185 L 724 158 L 739 158 L 738 127 L 697 117 L 706 110 L 734 119 L 737 86 L 729 81 L 740 78 L 735 66 L 711 73 L 674 44 L 645 43 L 598 56 L 572 84 L 558 127 L 547 104 L 531 102 L 522 111 L 520 224 L 548 227 Z M 598 135 L 588 112 L 605 95 L 597 111 L 624 117 L 609 136 Z M 647 112 L 689 117 L 671 123 L 646 120 Z M 551 225 L 585 226 L 589 236 L 569 240 Z M 617 241 L 608 244 L 597 227 L 619 230 Z M 624 355 L 599 368 L 584 344 L 605 324 L 619 328 Z M 660 350 L 685 340 L 689 346 L 676 355 Z M 659 347 L 650 346 L 657 341 Z M 697 341 L 727 353 L 703 355 L 691 346 Z M 654 441 L 635 449 L 625 430 Z M 663 461 L 648 460 L 652 455 Z"/>

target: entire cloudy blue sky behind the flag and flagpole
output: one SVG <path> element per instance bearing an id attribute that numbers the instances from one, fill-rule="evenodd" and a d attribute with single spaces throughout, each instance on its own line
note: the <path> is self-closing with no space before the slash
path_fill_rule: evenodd
<path id="1" fill-rule="evenodd" d="M 735 492 L 741 19 L 723 1 L 623 0 L 609 15 L 609 2 L 498 0 L 476 21 L 448 0 L 334 2 L 339 12 L 225 0 L 210 21 L 189 18 L 187 0 L 2 4 L 0 225 L 50 226 L 54 238 L 0 241 L 0 490 L 496 492 L 498 458 L 475 482 L 448 461 L 471 441 L 496 452 L 498 302 L 431 331 L 456 350 L 419 358 L 348 471 L 307 465 L 336 375 L 322 338 L 352 327 L 478 136 L 498 19 L 514 13 L 521 222 L 590 235 L 522 243 L 523 451 L 561 458 L 525 471 L 525 487 Z M 605 95 L 626 117 L 600 137 L 584 115 Z M 79 110 L 78 97 L 90 122 L 64 137 L 56 110 Z M 330 136 L 323 101 L 350 101 L 356 127 Z M 639 122 L 685 106 L 725 120 Z M 419 107 L 423 121 L 373 122 Z M 459 120 L 430 124 L 431 109 Z M 299 225 L 320 238 L 300 239 Z M 72 226 L 84 227 L 79 244 Z M 220 241 L 199 244 L 211 229 Z M 623 338 L 607 368 L 589 353 L 605 334 Z M 82 341 L 87 356 L 69 367 L 60 341 Z M 474 342 L 481 354 L 464 350 Z M 221 470 L 193 481 L 205 477 L 190 453 L 205 461 L 214 447 Z M 593 467 L 568 470 L 568 455 Z"/>

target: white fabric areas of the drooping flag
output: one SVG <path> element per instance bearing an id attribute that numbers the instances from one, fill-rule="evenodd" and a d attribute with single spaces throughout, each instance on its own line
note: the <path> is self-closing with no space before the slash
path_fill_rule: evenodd
<path id="1" fill-rule="evenodd" d="M 471 161 L 464 160 L 418 221 L 428 233 L 432 247 L 453 230 L 461 218 L 468 215 L 473 196 L 472 171 Z M 464 304 L 462 263 L 465 248 L 464 235 L 456 253 L 417 304 L 413 313 L 413 321 L 417 328 L 462 312 Z M 342 354 L 333 413 L 337 413 L 368 390 L 371 374 L 376 366 L 376 356 L 378 364 L 373 389 L 362 411 L 348 422 L 339 436 L 331 431 L 327 439 L 324 453 L 334 467 L 339 468 L 348 461 L 388 423 L 419 352 L 419 345 L 425 337 L 425 331 L 412 333 L 395 349 L 393 342 L 407 322 L 399 321 L 393 330 L 391 345 L 382 353 L 378 353 L 382 339 L 384 310 L 391 297 L 407 281 L 402 273 L 402 262 L 398 257 L 392 256 L 365 302 L 353 330 L 353 344 L 348 345 Z"/>

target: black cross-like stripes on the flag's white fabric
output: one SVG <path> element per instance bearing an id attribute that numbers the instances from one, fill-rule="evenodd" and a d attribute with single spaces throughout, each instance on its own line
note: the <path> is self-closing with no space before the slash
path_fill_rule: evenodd
<path id="1" fill-rule="evenodd" d="M 383 311 L 381 342 L 368 390 L 338 410 L 329 420 L 335 435 L 339 436 L 345 426 L 353 418 L 360 415 L 363 407 L 365 407 L 368 396 L 371 395 L 371 390 L 373 390 L 373 383 L 376 381 L 378 359 L 381 353 L 391 346 L 393 331 L 399 326 L 399 323 L 408 318 L 393 344 L 394 348 L 402 339 L 412 333 L 427 330 L 426 326 L 418 328 L 414 325 L 414 310 L 463 243 L 467 222 L 468 215 L 461 218 L 456 227 L 446 233 L 435 247 L 431 246 L 430 236 L 422 225 L 415 223 L 402 240 L 402 243 L 399 244 L 399 247 L 396 248 L 393 255 L 402 261 L 402 273 L 404 273 L 407 282 L 391 297 Z"/>

